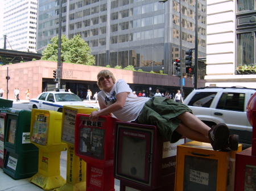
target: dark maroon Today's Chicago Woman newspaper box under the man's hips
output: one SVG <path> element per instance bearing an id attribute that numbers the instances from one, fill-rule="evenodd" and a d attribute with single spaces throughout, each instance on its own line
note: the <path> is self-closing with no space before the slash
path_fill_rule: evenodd
<path id="1" fill-rule="evenodd" d="M 176 143 L 165 139 L 156 126 L 115 123 L 114 177 L 120 191 L 174 190 Z"/>

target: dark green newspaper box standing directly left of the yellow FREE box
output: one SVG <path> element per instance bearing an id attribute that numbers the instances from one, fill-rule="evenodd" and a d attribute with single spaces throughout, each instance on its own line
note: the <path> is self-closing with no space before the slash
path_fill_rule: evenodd
<path id="1" fill-rule="evenodd" d="M 30 143 L 31 111 L 10 108 L 6 113 L 3 172 L 13 179 L 26 179 L 38 172 L 39 150 Z"/>

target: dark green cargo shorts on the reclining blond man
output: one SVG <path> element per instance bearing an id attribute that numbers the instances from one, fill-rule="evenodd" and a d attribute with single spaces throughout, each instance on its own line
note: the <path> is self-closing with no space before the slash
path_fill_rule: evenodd
<path id="1" fill-rule="evenodd" d="M 157 126 L 163 137 L 175 143 L 182 137 L 175 131 L 180 124 L 177 116 L 184 112 L 192 113 L 185 104 L 176 103 L 166 97 L 155 96 L 144 104 L 138 121 L 144 125 Z"/>

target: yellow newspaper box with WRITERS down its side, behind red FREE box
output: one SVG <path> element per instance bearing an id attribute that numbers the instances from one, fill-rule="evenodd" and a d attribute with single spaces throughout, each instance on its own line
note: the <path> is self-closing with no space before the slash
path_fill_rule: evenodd
<path id="1" fill-rule="evenodd" d="M 86 190 L 86 163 L 75 155 L 75 118 L 77 113 L 90 114 L 96 111 L 82 105 L 64 105 L 61 125 L 61 141 L 68 144 L 66 184 L 54 191 Z"/>

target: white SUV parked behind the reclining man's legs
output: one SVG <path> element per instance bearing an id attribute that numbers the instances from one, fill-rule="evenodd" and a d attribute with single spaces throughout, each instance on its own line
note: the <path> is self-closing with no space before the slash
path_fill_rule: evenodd
<path id="1" fill-rule="evenodd" d="M 251 144 L 252 127 L 246 106 L 256 89 L 245 87 L 204 87 L 193 90 L 184 100 L 193 114 L 208 126 L 225 123 L 239 142 Z"/>

